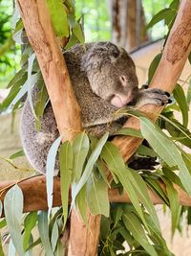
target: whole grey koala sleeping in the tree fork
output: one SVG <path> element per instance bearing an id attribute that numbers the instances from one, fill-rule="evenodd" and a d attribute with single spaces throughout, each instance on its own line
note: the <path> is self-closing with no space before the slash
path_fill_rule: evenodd
<path id="1" fill-rule="evenodd" d="M 165 105 L 169 102 L 169 94 L 159 89 L 138 90 L 134 61 L 123 48 L 111 42 L 87 43 L 85 47 L 76 45 L 63 55 L 76 100 L 81 107 L 82 127 L 96 137 L 100 137 L 106 130 L 112 135 L 122 127 L 127 117 L 117 115 L 121 107 Z M 34 86 L 33 104 L 37 91 L 37 86 Z M 35 119 L 27 100 L 22 111 L 21 140 L 36 171 L 46 172 L 47 154 L 58 136 L 51 103 L 46 105 L 41 118 L 41 129 L 36 130 Z M 59 170 L 58 160 L 55 169 Z"/>

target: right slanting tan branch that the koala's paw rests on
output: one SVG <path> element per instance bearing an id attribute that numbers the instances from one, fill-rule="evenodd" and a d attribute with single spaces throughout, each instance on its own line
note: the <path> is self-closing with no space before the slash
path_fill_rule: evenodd
<path id="1" fill-rule="evenodd" d="M 151 88 L 159 88 L 172 92 L 178 81 L 186 59 L 191 51 L 191 1 L 182 0 L 180 10 L 171 33 L 168 37 L 159 67 L 151 81 Z M 159 117 L 162 107 L 157 105 L 145 105 L 140 109 L 153 121 Z M 137 118 L 131 117 L 124 125 L 125 128 L 139 129 Z M 125 161 L 138 149 L 141 139 L 130 136 L 120 136 L 113 140 L 120 150 Z"/>

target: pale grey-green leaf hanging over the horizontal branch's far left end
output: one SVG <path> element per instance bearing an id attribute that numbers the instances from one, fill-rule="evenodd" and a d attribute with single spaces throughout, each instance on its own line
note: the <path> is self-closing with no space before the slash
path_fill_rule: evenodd
<path id="1" fill-rule="evenodd" d="M 16 207 L 15 207 L 16 206 Z M 12 244 L 20 256 L 24 255 L 22 231 L 23 193 L 18 185 L 14 185 L 4 199 L 4 210 Z"/>

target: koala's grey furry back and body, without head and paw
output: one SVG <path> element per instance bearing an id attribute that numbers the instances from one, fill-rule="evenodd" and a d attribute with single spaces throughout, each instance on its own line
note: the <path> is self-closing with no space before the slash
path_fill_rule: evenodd
<path id="1" fill-rule="evenodd" d="M 90 132 L 94 135 L 97 135 L 96 132 L 101 135 L 101 132 L 104 133 L 103 128 L 106 130 L 106 123 L 111 112 L 115 111 L 116 108 L 93 93 L 86 74 L 80 68 L 82 56 L 92 46 L 93 44 L 86 44 L 86 49 L 83 46 L 75 46 L 72 50 L 65 52 L 64 57 L 74 86 L 76 100 L 81 107 L 82 127 L 90 128 Z M 36 93 L 37 88 L 35 86 L 32 90 L 32 102 L 34 105 Z M 101 128 L 103 123 L 105 124 Z M 95 129 L 95 126 L 97 126 L 97 129 Z M 58 136 L 52 105 L 49 103 L 46 106 L 44 115 L 41 118 L 41 129 L 36 130 L 35 119 L 30 103 L 27 100 L 21 119 L 21 139 L 24 151 L 35 170 L 41 173 L 46 172 L 47 154 L 53 141 Z M 56 160 L 55 169 L 59 169 L 58 160 Z"/>

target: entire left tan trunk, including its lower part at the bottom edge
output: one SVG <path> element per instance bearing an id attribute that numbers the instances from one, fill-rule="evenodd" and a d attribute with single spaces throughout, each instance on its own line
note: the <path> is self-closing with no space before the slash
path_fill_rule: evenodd
<path id="1" fill-rule="evenodd" d="M 17 0 L 17 2 L 29 41 L 36 54 L 46 83 L 62 141 L 71 141 L 81 129 L 80 109 L 76 103 L 69 72 L 59 47 L 60 41 L 58 41 L 53 32 L 46 1 Z M 95 222 L 100 222 L 100 216 L 95 217 L 89 214 L 89 229 L 87 230 L 83 221 L 80 221 L 75 215 L 73 212 L 68 255 L 94 256 L 92 254 L 93 247 L 95 247 L 94 251 L 96 251 L 97 244 L 95 242 L 98 241 L 99 236 L 99 230 L 95 228 Z M 76 225 L 82 238 L 80 241 L 78 234 L 74 231 Z M 76 244 L 77 247 L 81 248 L 80 254 L 77 253 Z M 84 248 L 84 252 L 82 248 Z"/>

